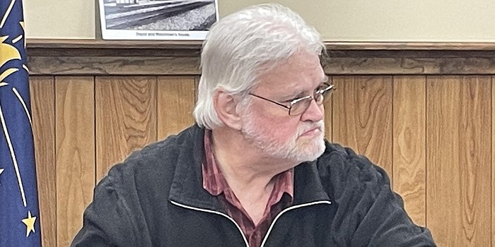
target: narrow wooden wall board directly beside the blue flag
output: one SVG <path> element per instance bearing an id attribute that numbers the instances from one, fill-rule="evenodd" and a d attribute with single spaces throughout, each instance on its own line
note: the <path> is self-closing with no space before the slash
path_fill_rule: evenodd
<path id="1" fill-rule="evenodd" d="M 42 246 L 57 246 L 57 167 L 53 76 L 29 78 Z"/>

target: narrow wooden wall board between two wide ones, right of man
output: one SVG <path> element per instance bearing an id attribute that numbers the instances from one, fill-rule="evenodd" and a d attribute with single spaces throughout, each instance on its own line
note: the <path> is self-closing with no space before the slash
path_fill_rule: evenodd
<path id="1" fill-rule="evenodd" d="M 393 187 L 426 226 L 426 78 L 394 76 L 393 88 Z"/>

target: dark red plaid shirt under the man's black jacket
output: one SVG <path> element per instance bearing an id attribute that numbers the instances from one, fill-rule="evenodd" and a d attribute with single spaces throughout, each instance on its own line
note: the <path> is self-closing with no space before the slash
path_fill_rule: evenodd
<path id="1" fill-rule="evenodd" d="M 216 164 L 214 152 L 211 149 L 211 131 L 206 130 L 204 133 L 204 152 L 206 159 L 202 165 L 203 188 L 211 195 L 217 196 L 223 207 L 226 209 L 235 222 L 239 224 L 240 229 L 248 239 L 250 247 L 258 247 L 267 234 L 270 224 L 272 224 L 276 215 L 292 204 L 293 199 L 293 169 L 282 172 L 275 176 L 276 179 L 272 194 L 268 199 L 267 206 L 264 208 L 263 217 L 255 225 L 252 222 L 248 212 L 240 204 L 239 199 L 235 196 L 228 186 L 225 177 L 223 177 L 219 167 Z"/>

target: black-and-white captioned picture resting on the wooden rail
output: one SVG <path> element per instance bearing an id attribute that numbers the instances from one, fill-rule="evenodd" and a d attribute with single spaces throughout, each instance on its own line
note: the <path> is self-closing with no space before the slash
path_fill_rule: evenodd
<path id="1" fill-rule="evenodd" d="M 103 40 L 204 40 L 217 0 L 98 0 Z"/>

